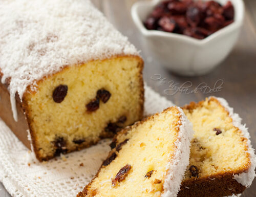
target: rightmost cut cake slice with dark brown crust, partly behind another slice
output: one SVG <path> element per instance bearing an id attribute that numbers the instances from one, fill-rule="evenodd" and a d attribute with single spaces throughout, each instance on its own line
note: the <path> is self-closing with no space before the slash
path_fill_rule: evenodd
<path id="1" fill-rule="evenodd" d="M 195 130 L 180 197 L 239 194 L 255 177 L 256 159 L 241 118 L 223 98 L 210 97 L 183 107 Z M 235 195 L 234 195 L 235 196 Z"/>

